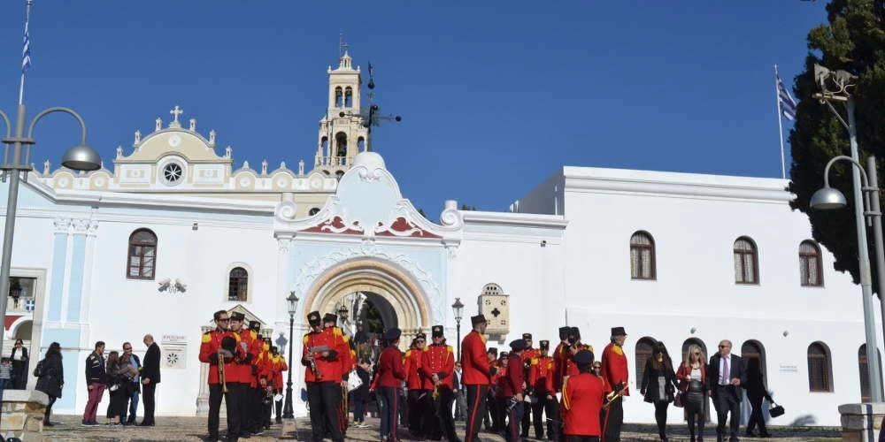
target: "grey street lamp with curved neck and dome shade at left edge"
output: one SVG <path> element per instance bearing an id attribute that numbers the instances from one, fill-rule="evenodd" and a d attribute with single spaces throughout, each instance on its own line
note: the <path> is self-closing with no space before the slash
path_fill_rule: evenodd
<path id="1" fill-rule="evenodd" d="M 12 265 L 12 238 L 15 232 L 15 210 L 19 205 L 19 180 L 21 180 L 21 172 L 25 173 L 27 180 L 27 172 L 31 171 L 31 146 L 34 141 L 34 126 L 37 121 L 50 113 L 64 112 L 76 118 L 80 123 L 81 137 L 80 143 L 65 152 L 61 157 L 61 164 L 68 169 L 74 171 L 95 171 L 102 166 L 102 159 L 98 153 L 86 145 L 86 123 L 83 118 L 68 108 L 54 107 L 43 110 L 38 113 L 31 124 L 27 126 L 27 136 L 25 133 L 25 125 L 27 120 L 27 107 L 23 103 L 19 103 L 19 108 L 15 118 L 15 136 L 12 135 L 12 126 L 10 119 L 3 110 L 0 110 L 0 118 L 6 123 L 6 136 L 0 139 L 4 143 L 3 164 L 0 164 L 2 171 L 2 179 L 9 179 L 9 195 L 6 202 L 6 225 L 3 232 L 3 256 L 0 263 L 0 318 L 6 317 L 6 296 L 9 295 L 9 272 Z M 11 152 L 12 149 L 12 152 Z M 12 153 L 12 156 L 10 154 Z M 0 342 L 4 340 L 4 326 L 0 326 Z"/>

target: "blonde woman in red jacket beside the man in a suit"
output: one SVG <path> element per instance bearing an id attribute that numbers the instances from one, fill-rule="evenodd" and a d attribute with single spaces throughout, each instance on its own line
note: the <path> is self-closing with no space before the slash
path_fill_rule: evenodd
<path id="1" fill-rule="evenodd" d="M 706 361 L 706 355 L 701 351 L 701 347 L 691 345 L 689 352 L 685 354 L 685 361 L 676 371 L 676 378 L 679 379 L 679 391 L 685 395 L 685 415 L 689 420 L 691 442 L 703 442 L 704 440 L 704 407 L 707 403 Z M 697 438 L 695 438 L 695 422 L 697 422 Z"/>

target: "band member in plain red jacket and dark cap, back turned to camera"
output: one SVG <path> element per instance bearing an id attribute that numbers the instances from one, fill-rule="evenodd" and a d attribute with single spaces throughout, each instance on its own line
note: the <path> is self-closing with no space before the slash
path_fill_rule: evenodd
<path id="1" fill-rule="evenodd" d="M 574 362 L 578 374 L 568 377 L 562 388 L 562 431 L 566 442 L 598 442 L 599 421 L 591 416 L 599 415 L 603 406 L 603 381 L 590 372 L 593 354 L 589 350 L 575 353 Z"/>

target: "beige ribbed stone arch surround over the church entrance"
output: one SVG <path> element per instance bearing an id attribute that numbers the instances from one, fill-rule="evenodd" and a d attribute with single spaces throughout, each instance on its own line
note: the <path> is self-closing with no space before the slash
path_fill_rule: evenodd
<path id="1" fill-rule="evenodd" d="M 384 324 L 403 330 L 403 347 L 418 331 L 429 328 L 427 296 L 418 281 L 396 263 L 375 257 L 351 259 L 324 271 L 306 291 L 305 311 L 335 312 L 352 293 L 371 293 L 373 303 L 385 307 Z"/>

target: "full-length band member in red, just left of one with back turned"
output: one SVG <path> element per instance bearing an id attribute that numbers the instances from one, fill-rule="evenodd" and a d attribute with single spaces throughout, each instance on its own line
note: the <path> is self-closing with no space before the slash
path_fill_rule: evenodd
<path id="1" fill-rule="evenodd" d="M 556 400 L 556 391 L 553 390 L 553 358 L 550 357 L 550 341 L 542 340 L 541 353 L 537 362 L 532 362 L 532 370 L 528 376 L 528 385 L 536 401 L 532 402 L 532 422 L 535 423 L 535 438 L 544 438 L 544 419 L 546 415 L 547 435 L 550 440 L 556 440 L 558 431 L 555 421 L 559 420 L 559 404 Z"/>

